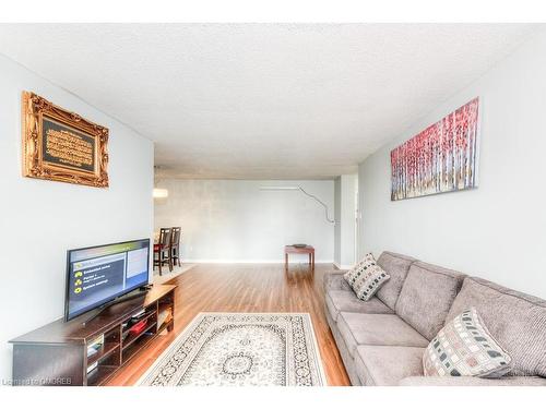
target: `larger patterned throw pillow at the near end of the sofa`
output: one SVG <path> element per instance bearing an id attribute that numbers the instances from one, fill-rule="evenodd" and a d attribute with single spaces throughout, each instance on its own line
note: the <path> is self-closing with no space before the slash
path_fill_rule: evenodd
<path id="1" fill-rule="evenodd" d="M 491 337 L 476 309 L 448 323 L 423 356 L 426 376 L 501 377 L 510 371 L 510 356 Z"/>

